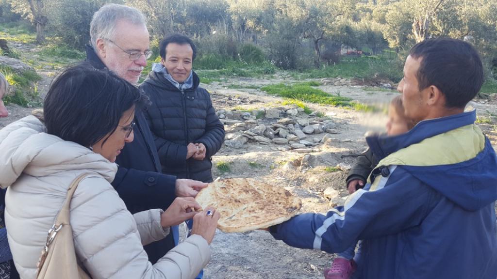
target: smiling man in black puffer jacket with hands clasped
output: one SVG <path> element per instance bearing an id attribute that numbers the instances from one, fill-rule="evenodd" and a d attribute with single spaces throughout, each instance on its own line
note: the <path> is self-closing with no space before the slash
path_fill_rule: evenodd
<path id="1" fill-rule="evenodd" d="M 211 156 L 224 141 L 224 126 L 209 92 L 199 87 L 192 70 L 196 48 L 182 35 L 159 45 L 161 63 L 154 64 L 140 87 L 152 106 L 145 117 L 154 134 L 162 170 L 178 178 L 212 182 Z"/>

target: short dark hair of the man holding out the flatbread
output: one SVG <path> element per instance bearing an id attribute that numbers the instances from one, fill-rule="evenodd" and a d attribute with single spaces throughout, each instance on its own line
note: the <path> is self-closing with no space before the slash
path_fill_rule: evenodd
<path id="1" fill-rule="evenodd" d="M 482 61 L 467 42 L 449 38 L 425 40 L 416 44 L 410 55 L 421 58 L 416 74 L 419 90 L 436 86 L 445 95 L 448 108 L 464 108 L 482 87 Z"/>

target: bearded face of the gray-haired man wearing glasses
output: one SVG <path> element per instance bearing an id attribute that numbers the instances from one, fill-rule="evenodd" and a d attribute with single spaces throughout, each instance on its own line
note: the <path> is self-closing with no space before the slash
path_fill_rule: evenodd
<path id="1" fill-rule="evenodd" d="M 145 25 L 118 21 L 112 38 L 97 39 L 96 49 L 103 64 L 132 84 L 138 83 L 142 70 L 147 66 L 145 55 L 131 60 L 129 53 L 149 51 L 149 32 Z"/>

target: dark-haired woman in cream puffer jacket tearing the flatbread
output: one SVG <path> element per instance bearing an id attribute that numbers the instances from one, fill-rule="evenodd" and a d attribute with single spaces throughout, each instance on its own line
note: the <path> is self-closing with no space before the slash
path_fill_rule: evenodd
<path id="1" fill-rule="evenodd" d="M 137 87 L 112 72 L 79 65 L 49 89 L 44 124 L 28 116 L 0 131 L 0 187 L 8 187 L 5 221 L 21 278 L 36 278 L 47 231 L 82 174 L 88 175 L 71 200 L 71 226 L 78 261 L 92 278 L 189 279 L 208 263 L 219 219 L 215 209 L 197 213 L 193 198 L 176 198 L 166 211 L 132 215 L 110 185 L 117 155 L 133 141 L 135 110 L 146 102 Z M 192 236 L 152 265 L 143 245 L 191 217 Z"/>

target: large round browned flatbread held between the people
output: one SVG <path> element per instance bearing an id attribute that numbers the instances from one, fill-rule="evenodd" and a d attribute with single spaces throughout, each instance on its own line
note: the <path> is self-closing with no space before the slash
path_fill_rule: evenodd
<path id="1" fill-rule="evenodd" d="M 281 187 L 244 178 L 227 178 L 210 183 L 195 198 L 221 214 L 218 228 L 224 232 L 246 232 L 282 223 L 297 214 L 299 198 Z"/>

